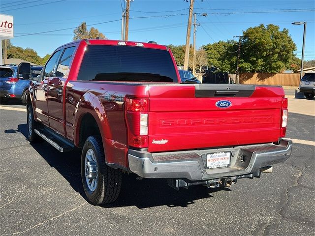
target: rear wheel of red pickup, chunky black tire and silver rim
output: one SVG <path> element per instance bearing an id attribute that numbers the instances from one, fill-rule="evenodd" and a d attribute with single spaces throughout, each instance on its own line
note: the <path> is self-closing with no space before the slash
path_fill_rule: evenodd
<path id="1" fill-rule="evenodd" d="M 94 153 L 95 161 L 93 164 L 96 165 L 96 171 L 93 172 L 93 175 L 97 174 L 93 178 L 86 176 L 86 170 L 89 170 L 89 164 L 92 163 L 89 161 L 89 164 L 86 164 L 89 156 L 88 151 Z M 88 173 L 91 174 L 91 172 Z M 108 204 L 117 199 L 122 185 L 122 171 L 106 165 L 103 143 L 99 136 L 90 136 L 84 143 L 81 155 L 81 177 L 84 192 L 93 205 Z M 96 185 L 91 186 L 90 181 L 93 179 L 95 179 Z"/>

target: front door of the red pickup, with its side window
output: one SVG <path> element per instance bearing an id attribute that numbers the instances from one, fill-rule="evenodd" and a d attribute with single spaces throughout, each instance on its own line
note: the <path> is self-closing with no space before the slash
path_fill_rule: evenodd
<path id="1" fill-rule="evenodd" d="M 47 92 L 48 92 L 48 82 L 49 78 L 54 76 L 55 68 L 57 66 L 57 61 L 60 57 L 60 51 L 57 51 L 53 56 L 47 61 L 45 65 L 45 71 L 42 75 L 42 80 L 36 83 L 34 89 L 35 102 L 35 117 L 37 120 L 43 122 L 49 126 L 48 120 L 48 104 L 47 104 Z"/>

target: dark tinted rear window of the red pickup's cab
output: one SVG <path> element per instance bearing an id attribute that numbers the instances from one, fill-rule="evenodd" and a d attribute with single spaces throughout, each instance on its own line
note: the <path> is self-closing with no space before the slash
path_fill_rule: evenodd
<path id="1" fill-rule="evenodd" d="M 87 46 L 78 80 L 178 82 L 168 51 L 108 45 Z"/>

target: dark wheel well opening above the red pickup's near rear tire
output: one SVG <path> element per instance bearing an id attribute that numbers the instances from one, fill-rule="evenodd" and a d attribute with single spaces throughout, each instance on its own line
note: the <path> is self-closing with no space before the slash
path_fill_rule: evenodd
<path id="1" fill-rule="evenodd" d="M 81 118 L 79 128 L 79 148 L 82 148 L 87 138 L 91 135 L 100 135 L 95 118 L 91 114 L 85 114 Z"/>

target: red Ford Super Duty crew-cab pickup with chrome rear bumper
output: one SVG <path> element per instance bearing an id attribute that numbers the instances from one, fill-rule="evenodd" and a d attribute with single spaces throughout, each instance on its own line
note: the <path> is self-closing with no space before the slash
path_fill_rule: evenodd
<path id="1" fill-rule="evenodd" d="M 55 50 L 27 104 L 28 135 L 59 151 L 82 148 L 95 205 L 117 199 L 122 173 L 175 189 L 231 186 L 286 160 L 282 87 L 183 84 L 166 46 L 80 40 Z"/>

